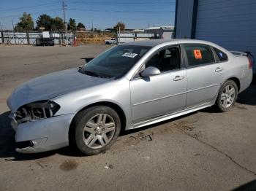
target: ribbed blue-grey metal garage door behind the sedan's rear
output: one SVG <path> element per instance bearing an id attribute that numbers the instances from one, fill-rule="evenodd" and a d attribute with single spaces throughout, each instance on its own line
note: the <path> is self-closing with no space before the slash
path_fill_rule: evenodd
<path id="1" fill-rule="evenodd" d="M 195 39 L 251 51 L 256 58 L 256 1 L 199 0 Z"/>

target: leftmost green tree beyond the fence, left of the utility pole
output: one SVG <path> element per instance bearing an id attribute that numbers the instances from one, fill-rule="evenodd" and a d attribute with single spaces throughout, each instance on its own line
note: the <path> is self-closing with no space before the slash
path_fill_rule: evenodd
<path id="1" fill-rule="evenodd" d="M 34 21 L 31 15 L 23 12 L 22 17 L 20 17 L 20 22 L 17 23 L 16 29 L 18 29 L 18 31 L 34 30 Z"/>

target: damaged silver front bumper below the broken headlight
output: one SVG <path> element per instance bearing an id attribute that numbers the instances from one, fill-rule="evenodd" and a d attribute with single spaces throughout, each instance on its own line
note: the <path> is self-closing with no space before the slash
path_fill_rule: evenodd
<path id="1" fill-rule="evenodd" d="M 36 153 L 66 147 L 73 117 L 74 114 L 63 114 L 18 124 L 15 114 L 10 114 L 12 128 L 16 131 L 16 151 Z"/>

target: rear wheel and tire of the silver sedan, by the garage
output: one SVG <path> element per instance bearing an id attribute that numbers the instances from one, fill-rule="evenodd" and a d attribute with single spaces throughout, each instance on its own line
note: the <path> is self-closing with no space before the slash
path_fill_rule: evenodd
<path id="1" fill-rule="evenodd" d="M 229 111 L 236 103 L 238 87 L 233 80 L 227 80 L 219 89 L 215 106 L 220 112 Z"/>

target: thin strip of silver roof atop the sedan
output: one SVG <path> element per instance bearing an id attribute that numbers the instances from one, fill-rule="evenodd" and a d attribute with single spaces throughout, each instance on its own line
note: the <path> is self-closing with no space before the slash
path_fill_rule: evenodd
<path id="1" fill-rule="evenodd" d="M 158 44 L 163 44 L 170 42 L 170 44 L 180 44 L 180 43 L 199 43 L 199 44 L 210 44 L 210 42 L 195 40 L 195 39 L 150 39 L 141 40 L 134 42 L 127 42 L 119 45 L 133 45 L 133 46 L 145 46 L 145 47 L 155 47 Z"/>

